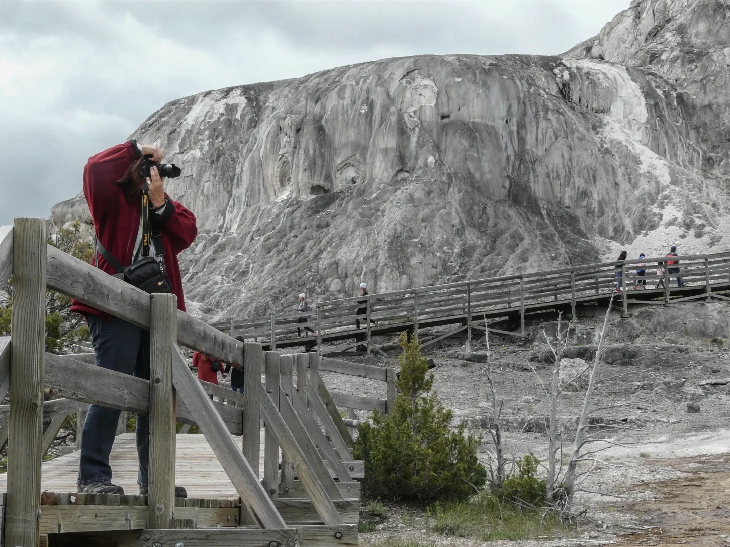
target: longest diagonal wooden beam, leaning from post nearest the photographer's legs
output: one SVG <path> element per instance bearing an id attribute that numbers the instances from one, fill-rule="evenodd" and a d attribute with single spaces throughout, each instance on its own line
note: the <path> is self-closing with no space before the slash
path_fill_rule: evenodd
<path id="1" fill-rule="evenodd" d="M 228 478 L 231 479 L 241 500 L 258 519 L 260 526 L 273 529 L 285 528 L 284 520 L 274 508 L 264 487 L 258 482 L 258 476 L 253 473 L 253 469 L 247 459 L 243 457 L 242 451 L 228 434 L 226 424 L 215 411 L 212 401 L 191 373 L 187 360 L 180 355 L 177 347 L 174 347 L 172 352 L 172 383 L 177 389 L 179 397 L 185 401 L 185 405 L 193 415 L 199 429 L 205 435 L 215 457 L 226 470 Z"/>

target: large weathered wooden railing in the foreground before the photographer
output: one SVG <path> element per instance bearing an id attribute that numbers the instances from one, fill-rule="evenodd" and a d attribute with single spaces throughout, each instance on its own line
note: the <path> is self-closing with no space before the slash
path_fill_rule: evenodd
<path id="1" fill-rule="evenodd" d="M 7 421 L 8 441 L 0 545 L 36 547 L 41 534 L 135 529 L 148 530 L 124 536 L 125 546 L 174 545 L 183 538 L 210 546 L 357 543 L 360 491 L 353 478 L 363 476 L 364 469 L 352 460 L 351 440 L 342 435 L 345 424 L 318 376 L 317 354 L 285 356 L 239 342 L 178 311 L 174 295 L 149 295 L 47 246 L 43 220 L 16 219 L 14 227 L 0 228 L 0 283 L 10 274 L 12 335 L 0 338 L 0 397 L 9 392 L 9 406 L 0 408 L 0 432 Z M 150 380 L 44 352 L 47 289 L 150 330 Z M 177 344 L 237 368 L 245 362 L 245 394 L 199 382 Z M 44 403 L 45 393 L 62 398 Z M 209 393 L 224 403 L 211 400 Z M 56 420 L 78 412 L 80 404 L 149 416 L 150 481 L 144 503 L 139 496 L 41 497 L 40 461 L 60 427 Z M 44 415 L 52 419 L 45 433 Z M 176 421 L 196 424 L 226 470 L 241 498 L 235 519 L 231 503 L 218 500 L 203 508 L 175 500 Z M 263 484 L 258 478 L 261 422 Z M 231 433 L 242 437 L 242 448 Z M 107 505 L 103 511 L 93 508 L 100 504 Z M 263 530 L 236 528 L 241 524 Z M 180 529 L 196 526 L 231 528 Z M 121 537 L 117 533 L 114 539 Z"/>

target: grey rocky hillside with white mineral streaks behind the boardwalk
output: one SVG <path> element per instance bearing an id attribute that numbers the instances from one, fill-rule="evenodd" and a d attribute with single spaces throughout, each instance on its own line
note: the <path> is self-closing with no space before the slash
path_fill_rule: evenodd
<path id="1" fill-rule="evenodd" d="M 183 166 L 191 310 L 727 249 L 729 16 L 634 0 L 561 56 L 385 59 L 166 104 L 133 136 Z M 83 198 L 53 211 L 74 217 Z"/>

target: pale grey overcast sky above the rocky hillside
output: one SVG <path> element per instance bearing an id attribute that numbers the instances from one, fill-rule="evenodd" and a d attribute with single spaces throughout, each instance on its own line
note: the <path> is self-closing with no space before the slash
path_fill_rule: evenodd
<path id="1" fill-rule="evenodd" d="M 568 50 L 629 0 L 0 0 L 0 225 L 174 98 L 423 53 Z"/>

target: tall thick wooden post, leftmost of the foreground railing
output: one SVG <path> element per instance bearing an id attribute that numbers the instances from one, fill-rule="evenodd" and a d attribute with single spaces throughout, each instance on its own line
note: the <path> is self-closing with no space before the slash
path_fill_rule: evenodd
<path id="1" fill-rule="evenodd" d="M 45 365 L 45 220 L 13 222 L 6 546 L 38 547 Z"/>

